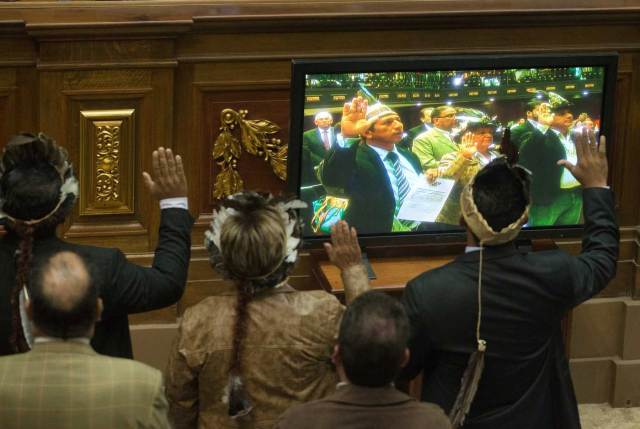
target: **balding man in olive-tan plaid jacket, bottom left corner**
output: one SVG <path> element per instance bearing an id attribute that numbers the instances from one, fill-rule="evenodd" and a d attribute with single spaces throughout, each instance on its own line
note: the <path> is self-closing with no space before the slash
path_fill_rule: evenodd
<path id="1" fill-rule="evenodd" d="M 3 428 L 168 428 L 159 371 L 97 354 L 97 280 L 76 253 L 35 261 L 27 289 L 31 351 L 0 358 Z"/>

